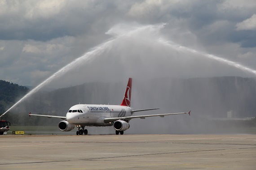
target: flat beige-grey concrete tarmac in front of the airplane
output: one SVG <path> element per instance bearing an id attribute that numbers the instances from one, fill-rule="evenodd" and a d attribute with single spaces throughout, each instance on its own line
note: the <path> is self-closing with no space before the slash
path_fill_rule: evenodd
<path id="1" fill-rule="evenodd" d="M 3 135 L 0 170 L 256 170 L 256 135 Z"/>

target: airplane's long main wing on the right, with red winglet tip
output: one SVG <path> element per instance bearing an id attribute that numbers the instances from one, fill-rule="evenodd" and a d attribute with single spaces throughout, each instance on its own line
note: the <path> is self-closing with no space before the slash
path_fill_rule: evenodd
<path id="1" fill-rule="evenodd" d="M 179 114 L 189 114 L 190 115 L 190 111 L 188 113 L 167 113 L 167 114 L 159 114 L 159 115 L 141 115 L 141 116 L 127 116 L 127 117 L 119 117 L 119 118 L 105 118 L 104 119 L 104 123 L 110 123 L 110 122 L 114 122 L 117 120 L 131 120 L 131 119 L 135 119 L 135 118 L 140 118 L 140 119 L 145 119 L 146 117 L 154 117 L 154 116 L 160 116 L 160 117 L 164 117 L 166 115 L 179 115 Z"/>

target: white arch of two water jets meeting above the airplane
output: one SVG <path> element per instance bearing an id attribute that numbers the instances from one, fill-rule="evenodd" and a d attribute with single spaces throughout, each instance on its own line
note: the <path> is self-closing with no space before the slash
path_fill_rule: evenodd
<path id="1" fill-rule="evenodd" d="M 129 38 L 133 34 L 137 34 L 138 32 L 143 33 L 143 32 L 146 32 L 146 31 L 149 34 L 157 34 L 158 35 L 159 31 L 165 25 L 166 25 L 165 23 L 161 23 L 161 24 L 158 24 L 158 25 L 133 26 L 133 27 L 129 27 L 129 28 L 126 25 L 124 25 L 124 26 L 117 25 L 117 26 L 111 28 L 109 31 L 106 32 L 106 34 L 112 35 L 114 37 L 113 39 L 111 39 L 110 41 L 107 41 L 106 43 L 102 43 L 101 45 L 93 48 L 91 51 L 88 51 L 87 53 L 85 53 L 81 57 L 75 59 L 71 63 L 67 64 L 66 66 L 64 66 L 63 68 L 61 68 L 57 72 L 55 72 L 52 76 L 50 76 L 48 79 L 46 79 L 45 81 L 43 81 L 42 83 L 37 85 L 34 89 L 32 89 L 29 93 L 27 93 L 23 98 L 21 98 L 18 102 L 16 102 L 12 107 L 10 107 L 7 111 L 5 111 L 4 114 L 2 114 L 0 116 L 0 118 L 3 115 L 5 115 L 7 112 L 9 112 L 9 110 L 11 110 L 13 107 L 17 106 L 20 102 L 22 102 L 23 100 L 25 100 L 26 98 L 31 96 L 31 94 L 37 92 L 44 85 L 47 85 L 49 82 L 51 82 L 55 78 L 64 75 L 66 72 L 69 72 L 70 70 L 75 68 L 75 66 L 79 66 L 82 63 L 92 61 L 95 57 L 99 56 L 100 54 L 104 53 L 107 50 L 110 50 L 112 48 L 113 43 L 115 43 L 115 41 L 118 40 L 119 38 L 124 38 L 124 37 Z M 117 27 L 124 27 L 126 29 L 123 29 L 123 30 L 119 29 L 119 31 L 117 31 L 117 29 L 116 29 Z M 163 46 L 173 48 L 177 51 L 187 51 L 187 52 L 190 52 L 190 53 L 202 55 L 202 56 L 207 57 L 209 59 L 214 59 L 214 60 L 219 61 L 221 63 L 228 64 L 232 67 L 235 67 L 235 68 L 238 68 L 238 69 L 241 69 L 243 71 L 250 72 L 250 73 L 256 75 L 256 70 L 248 68 L 248 67 L 246 67 L 242 64 L 235 63 L 235 62 L 230 61 L 228 59 L 224 59 L 224 58 L 218 57 L 216 55 L 207 54 L 207 53 L 202 52 L 202 51 L 197 51 L 197 50 L 194 50 L 192 48 L 184 47 L 184 46 L 181 46 L 177 43 L 173 43 L 171 41 L 168 41 L 164 38 L 154 39 L 154 41 L 156 43 L 159 43 L 159 44 L 163 45 Z"/>

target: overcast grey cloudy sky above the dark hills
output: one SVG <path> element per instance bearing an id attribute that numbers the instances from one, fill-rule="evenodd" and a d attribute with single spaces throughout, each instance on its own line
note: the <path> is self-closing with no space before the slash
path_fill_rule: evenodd
<path id="1" fill-rule="evenodd" d="M 0 23 L 0 79 L 19 85 L 75 59 L 49 87 L 256 76 L 205 55 L 256 69 L 255 0 L 0 0 Z"/>

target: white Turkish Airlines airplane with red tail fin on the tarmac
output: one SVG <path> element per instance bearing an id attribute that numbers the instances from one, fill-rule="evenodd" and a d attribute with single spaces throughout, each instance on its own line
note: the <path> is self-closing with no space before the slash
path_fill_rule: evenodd
<path id="1" fill-rule="evenodd" d="M 76 135 L 87 135 L 88 130 L 84 129 L 85 126 L 94 127 L 105 127 L 113 126 L 116 135 L 123 135 L 129 127 L 129 121 L 131 119 L 140 118 L 145 119 L 147 117 L 160 116 L 164 117 L 166 115 L 179 115 L 179 114 L 189 114 L 187 113 L 167 113 L 158 115 L 141 115 L 133 116 L 135 112 L 146 111 L 146 110 L 156 110 L 153 109 L 142 109 L 133 110 L 131 107 L 131 94 L 132 94 L 132 78 L 129 78 L 128 84 L 124 93 L 124 98 L 121 105 L 96 105 L 96 104 L 78 104 L 72 106 L 66 113 L 66 116 L 54 116 L 54 115 L 35 115 L 29 113 L 29 116 L 45 116 L 48 118 L 60 118 L 63 119 L 58 124 L 58 127 L 63 132 L 71 131 L 77 127 Z M 82 128 L 82 129 L 81 129 Z"/>

